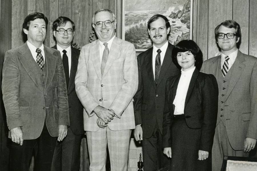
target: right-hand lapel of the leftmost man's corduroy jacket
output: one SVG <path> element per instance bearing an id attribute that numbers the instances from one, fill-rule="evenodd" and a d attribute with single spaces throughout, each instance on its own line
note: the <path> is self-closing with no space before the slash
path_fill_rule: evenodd
<path id="1" fill-rule="evenodd" d="M 45 82 L 45 90 L 49 87 L 53 80 L 53 76 L 55 74 L 55 68 L 57 65 L 57 56 L 53 55 L 53 49 L 50 51 L 51 48 L 48 48 L 44 45 L 44 52 L 45 52 L 45 64 L 47 65 L 47 78 Z"/>

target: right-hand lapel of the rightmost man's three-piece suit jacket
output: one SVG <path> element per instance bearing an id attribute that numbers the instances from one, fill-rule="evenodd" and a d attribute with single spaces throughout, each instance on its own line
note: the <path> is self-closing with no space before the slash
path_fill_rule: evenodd
<path id="1" fill-rule="evenodd" d="M 226 95 L 225 95 L 226 100 L 227 100 L 228 96 L 230 95 L 231 91 L 233 90 L 233 88 L 235 87 L 235 85 L 236 85 L 238 79 L 240 78 L 244 68 L 246 67 L 245 64 L 244 64 L 244 61 L 245 61 L 245 59 L 244 59 L 243 54 L 238 50 L 236 60 L 235 60 L 234 64 L 232 65 L 233 68 L 230 68 L 232 73 L 231 73 L 230 81 L 228 83 L 228 89 L 227 89 Z"/>

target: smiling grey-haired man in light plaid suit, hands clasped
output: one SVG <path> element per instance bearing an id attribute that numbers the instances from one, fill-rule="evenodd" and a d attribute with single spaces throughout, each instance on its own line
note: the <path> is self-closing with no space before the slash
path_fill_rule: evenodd
<path id="1" fill-rule="evenodd" d="M 82 47 L 75 88 L 84 106 L 90 170 L 105 170 L 108 143 L 111 170 L 125 171 L 138 69 L 133 44 L 115 36 L 116 17 L 109 9 L 93 16 L 98 40 Z"/>

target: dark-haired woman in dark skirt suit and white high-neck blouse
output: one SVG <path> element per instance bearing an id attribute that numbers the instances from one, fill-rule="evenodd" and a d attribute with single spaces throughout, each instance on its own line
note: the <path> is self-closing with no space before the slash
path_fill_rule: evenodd
<path id="1" fill-rule="evenodd" d="M 218 85 L 212 74 L 199 72 L 202 52 L 192 40 L 172 50 L 181 73 L 167 79 L 162 145 L 172 171 L 208 171 L 218 110 Z"/>

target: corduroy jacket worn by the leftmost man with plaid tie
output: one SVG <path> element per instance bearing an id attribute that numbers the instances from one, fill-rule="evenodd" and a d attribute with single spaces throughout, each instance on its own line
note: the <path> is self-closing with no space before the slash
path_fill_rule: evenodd
<path id="1" fill-rule="evenodd" d="M 69 125 L 65 74 L 59 51 L 44 46 L 46 81 L 27 42 L 9 50 L 3 65 L 3 102 L 9 130 L 21 127 L 23 139 L 41 135 L 46 120 L 52 137 L 59 125 Z M 10 136 L 10 134 L 9 134 Z"/>

